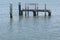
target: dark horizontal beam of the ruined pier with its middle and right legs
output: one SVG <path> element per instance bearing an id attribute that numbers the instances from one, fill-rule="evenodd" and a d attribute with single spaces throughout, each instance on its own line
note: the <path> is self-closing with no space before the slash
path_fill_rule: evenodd
<path id="1" fill-rule="evenodd" d="M 31 12 L 33 12 L 33 16 L 38 16 L 38 14 L 36 14 L 36 12 L 48 12 L 48 16 L 51 16 L 51 11 L 50 10 L 45 10 L 45 9 L 38 9 L 38 10 L 34 10 L 34 9 L 22 9 L 21 10 L 21 13 L 23 14 L 23 12 L 24 11 L 31 11 Z M 45 14 L 45 16 L 46 16 L 46 14 Z"/>

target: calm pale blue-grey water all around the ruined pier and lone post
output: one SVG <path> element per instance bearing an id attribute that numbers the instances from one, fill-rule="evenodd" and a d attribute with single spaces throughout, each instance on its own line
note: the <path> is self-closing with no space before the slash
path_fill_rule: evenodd
<path id="1" fill-rule="evenodd" d="M 40 2 L 39 7 L 52 11 L 52 16 L 18 16 L 18 2 Z M 9 17 L 9 3 L 13 3 L 13 19 Z M 60 40 L 60 0 L 0 0 L 0 40 Z M 41 6 L 42 5 L 42 6 Z M 24 5 L 22 5 L 22 8 Z"/>

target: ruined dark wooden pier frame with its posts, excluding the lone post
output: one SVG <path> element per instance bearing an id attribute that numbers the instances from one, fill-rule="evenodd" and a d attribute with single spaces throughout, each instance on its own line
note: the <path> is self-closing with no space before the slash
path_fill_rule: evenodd
<path id="1" fill-rule="evenodd" d="M 29 9 L 29 5 L 35 6 L 35 9 Z M 23 15 L 23 12 L 25 12 L 25 16 L 27 15 L 27 12 L 28 12 L 28 15 L 29 15 L 29 12 L 33 12 L 33 16 L 38 16 L 38 12 L 45 12 L 45 16 L 46 16 L 46 12 L 48 12 L 48 16 L 51 16 L 51 11 L 46 9 L 46 4 L 45 4 L 45 9 L 39 9 L 37 3 L 25 4 L 25 9 L 21 9 L 21 3 L 19 3 L 19 16 Z"/>

